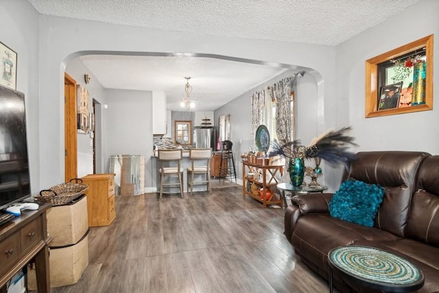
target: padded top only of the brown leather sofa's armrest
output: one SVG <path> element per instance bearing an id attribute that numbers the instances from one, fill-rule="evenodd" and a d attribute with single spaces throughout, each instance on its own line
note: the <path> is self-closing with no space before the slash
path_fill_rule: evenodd
<path id="1" fill-rule="evenodd" d="M 333 194 L 300 194 L 293 196 L 292 204 L 298 206 L 301 215 L 306 213 L 329 213 L 329 201 Z"/>

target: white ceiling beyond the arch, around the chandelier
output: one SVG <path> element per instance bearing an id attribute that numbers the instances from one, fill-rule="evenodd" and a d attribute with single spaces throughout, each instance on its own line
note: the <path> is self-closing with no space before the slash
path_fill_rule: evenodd
<path id="1" fill-rule="evenodd" d="M 190 97 L 196 103 L 195 110 L 215 110 L 288 70 L 199 57 L 102 55 L 80 59 L 105 88 L 165 91 L 169 110 L 181 110 L 185 76 L 191 77 Z"/>

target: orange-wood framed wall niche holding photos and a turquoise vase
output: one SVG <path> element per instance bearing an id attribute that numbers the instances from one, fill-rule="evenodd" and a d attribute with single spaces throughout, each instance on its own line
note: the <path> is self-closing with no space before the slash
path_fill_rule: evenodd
<path id="1" fill-rule="evenodd" d="M 366 118 L 432 109 L 432 34 L 366 60 Z"/>

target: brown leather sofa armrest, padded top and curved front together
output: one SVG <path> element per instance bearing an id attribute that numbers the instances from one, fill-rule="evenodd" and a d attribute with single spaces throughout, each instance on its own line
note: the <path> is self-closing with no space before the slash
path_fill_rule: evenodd
<path id="1" fill-rule="evenodd" d="M 300 194 L 293 196 L 292 204 L 285 210 L 285 237 L 292 241 L 296 222 L 301 215 L 307 213 L 329 213 L 329 201 L 333 194 Z"/>

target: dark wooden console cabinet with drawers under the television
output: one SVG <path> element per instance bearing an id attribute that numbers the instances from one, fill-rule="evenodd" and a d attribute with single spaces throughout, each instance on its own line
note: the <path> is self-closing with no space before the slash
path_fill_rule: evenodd
<path id="1" fill-rule="evenodd" d="M 21 211 L 19 217 L 0 226 L 0 292 L 32 259 L 35 259 L 38 292 L 50 292 L 48 244 L 51 237 L 47 234 L 46 217 L 49 207 L 50 204 L 45 204 L 36 211 Z"/>

